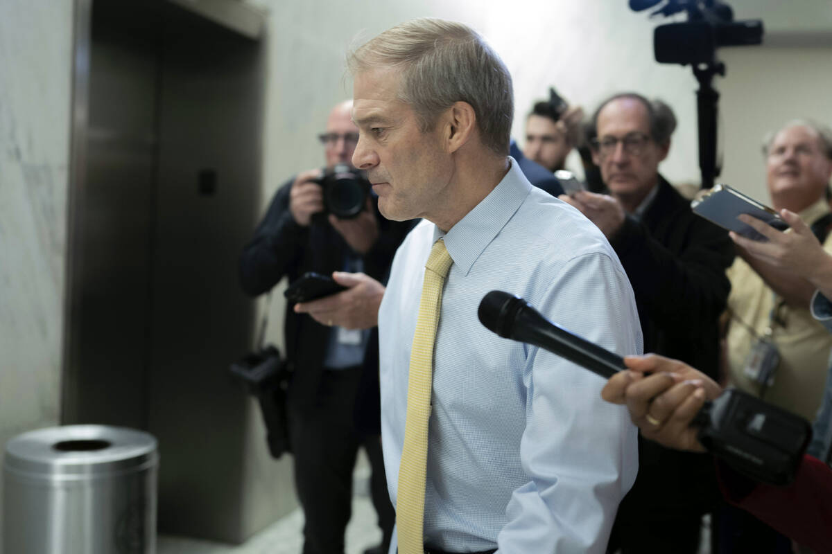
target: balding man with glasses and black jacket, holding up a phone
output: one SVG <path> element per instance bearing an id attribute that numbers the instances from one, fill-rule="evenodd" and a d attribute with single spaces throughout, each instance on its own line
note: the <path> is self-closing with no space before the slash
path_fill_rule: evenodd
<path id="1" fill-rule="evenodd" d="M 734 257 L 726 232 L 696 216 L 658 172 L 676 118 L 669 106 L 623 93 L 592 116 L 592 158 L 609 194 L 560 198 L 607 236 L 630 278 L 644 350 L 716 378 L 718 320 Z M 701 515 L 716 500 L 713 463 L 639 441 L 636 484 L 619 507 L 609 552 L 697 552 Z"/>

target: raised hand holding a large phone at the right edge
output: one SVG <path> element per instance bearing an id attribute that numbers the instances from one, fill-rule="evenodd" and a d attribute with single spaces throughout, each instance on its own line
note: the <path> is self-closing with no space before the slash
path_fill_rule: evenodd
<path id="1" fill-rule="evenodd" d="M 780 217 L 785 223 L 789 223 L 790 231 L 778 231 L 768 223 L 743 213 L 738 219 L 768 238 L 768 241 L 751 240 L 733 231 L 729 233 L 730 238 L 748 255 L 771 266 L 795 273 L 810 281 L 815 287 L 821 287 L 823 281 L 829 280 L 832 275 L 832 257 L 796 213 L 781 209 Z"/>

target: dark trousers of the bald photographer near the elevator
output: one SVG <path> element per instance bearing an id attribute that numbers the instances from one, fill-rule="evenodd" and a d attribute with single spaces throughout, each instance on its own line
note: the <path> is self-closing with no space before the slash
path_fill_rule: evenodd
<path id="1" fill-rule="evenodd" d="M 366 449 L 372 467 L 370 488 L 386 552 L 395 513 L 384 477 L 379 436 L 361 436 L 355 429 L 354 404 L 361 368 L 323 373 L 314 404 L 300 409 L 290 403 L 289 409 L 295 488 L 305 517 L 303 554 L 343 554 L 359 446 Z"/>

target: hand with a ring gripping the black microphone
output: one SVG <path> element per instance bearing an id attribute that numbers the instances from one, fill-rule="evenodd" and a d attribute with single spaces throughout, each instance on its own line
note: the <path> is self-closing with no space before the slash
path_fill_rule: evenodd
<path id="1" fill-rule="evenodd" d="M 704 452 L 690 424 L 705 400 L 720 395 L 710 377 L 678 360 L 660 355 L 626 356 L 629 371 L 613 375 L 602 398 L 626 404 L 641 435 L 663 446 Z M 652 372 L 652 375 L 644 375 Z"/>

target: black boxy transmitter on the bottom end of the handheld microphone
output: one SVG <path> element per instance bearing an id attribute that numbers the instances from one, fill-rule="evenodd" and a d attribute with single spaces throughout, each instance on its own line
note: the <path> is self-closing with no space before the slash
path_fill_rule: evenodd
<path id="1" fill-rule="evenodd" d="M 728 389 L 696 414 L 699 442 L 740 473 L 792 481 L 812 437 L 808 421 L 741 390 Z"/>

